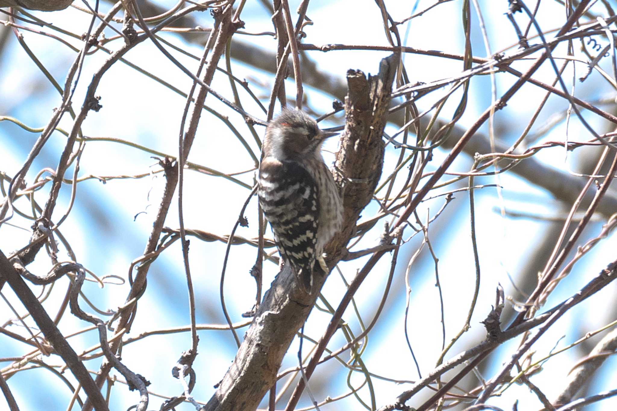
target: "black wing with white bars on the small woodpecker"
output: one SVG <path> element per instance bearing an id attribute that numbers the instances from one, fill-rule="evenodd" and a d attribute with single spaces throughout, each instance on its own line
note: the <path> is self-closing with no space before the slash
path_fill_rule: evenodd
<path id="1" fill-rule="evenodd" d="M 267 157 L 259 168 L 258 193 L 281 257 L 291 264 L 300 286 L 311 293 L 319 224 L 315 181 L 295 161 Z"/>

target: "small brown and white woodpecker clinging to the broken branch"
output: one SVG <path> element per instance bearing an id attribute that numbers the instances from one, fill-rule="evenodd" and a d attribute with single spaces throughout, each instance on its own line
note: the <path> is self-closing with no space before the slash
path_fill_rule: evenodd
<path id="1" fill-rule="evenodd" d="M 335 134 L 304 112 L 283 108 L 263 138 L 259 203 L 281 258 L 309 295 L 315 260 L 328 274 L 323 248 L 342 225 L 341 195 L 321 157 L 321 144 Z"/>

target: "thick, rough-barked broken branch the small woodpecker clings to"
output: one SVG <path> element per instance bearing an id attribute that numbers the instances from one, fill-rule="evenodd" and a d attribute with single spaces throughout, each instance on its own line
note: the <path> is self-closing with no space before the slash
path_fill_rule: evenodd
<path id="1" fill-rule="evenodd" d="M 334 178 L 344 187 L 344 228 L 326 247 L 329 267 L 346 253 L 360 211 L 369 203 L 381 176 L 387 107 L 399 55 L 381 61 L 379 74 L 367 80 L 358 70 L 347 73 L 346 129 L 336 155 Z M 353 179 L 353 184 L 349 179 Z M 357 181 L 355 179 L 362 179 Z M 325 277 L 315 279 L 319 290 Z M 302 327 L 317 298 L 297 286 L 287 269 L 276 276 L 244 337 L 233 364 L 204 410 L 255 410 L 276 381 L 276 373 L 289 345 Z"/>

